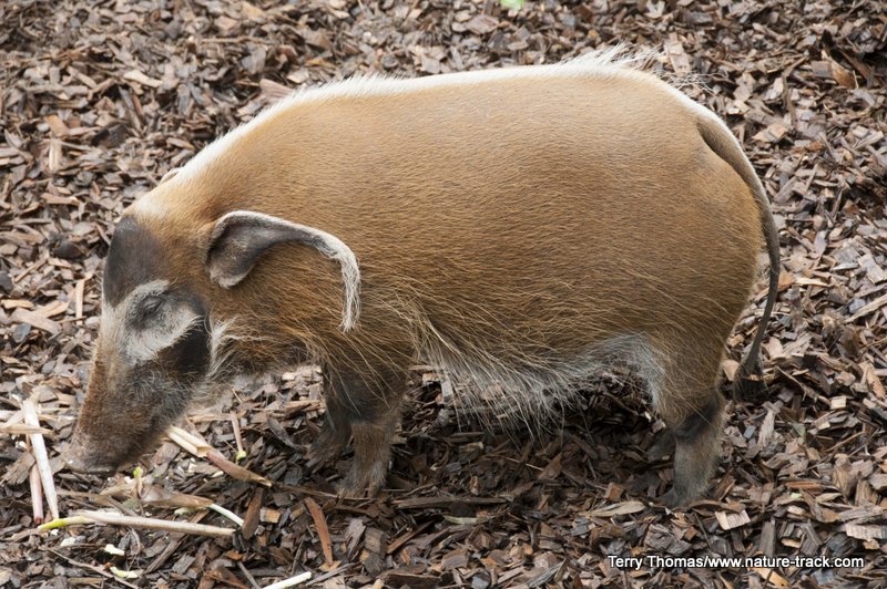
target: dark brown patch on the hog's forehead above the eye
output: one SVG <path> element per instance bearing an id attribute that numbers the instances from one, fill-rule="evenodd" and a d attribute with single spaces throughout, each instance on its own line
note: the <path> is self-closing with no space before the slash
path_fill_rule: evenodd
<path id="1" fill-rule="evenodd" d="M 104 300 L 118 304 L 139 285 L 162 278 L 163 264 L 163 248 L 157 238 L 132 217 L 125 217 L 114 229 L 104 262 Z"/>

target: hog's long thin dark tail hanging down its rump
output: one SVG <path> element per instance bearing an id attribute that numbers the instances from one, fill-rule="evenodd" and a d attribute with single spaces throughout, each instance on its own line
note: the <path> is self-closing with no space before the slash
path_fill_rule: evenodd
<path id="1" fill-rule="evenodd" d="M 779 235 L 769 210 L 769 200 L 764 190 L 764 185 L 761 183 L 757 174 L 755 174 L 752 163 L 748 162 L 736 137 L 733 136 L 726 125 L 717 118 L 716 115 L 707 110 L 705 110 L 703 116 L 696 120 L 696 127 L 708 147 L 736 170 L 752 192 L 761 214 L 761 228 L 764 232 L 767 254 L 769 256 L 769 287 L 767 300 L 764 303 L 764 313 L 761 316 L 757 333 L 752 341 L 752 347 L 748 349 L 748 355 L 745 356 L 741 366 L 737 383 L 742 383 L 745 378 L 759 370 L 761 343 L 766 334 L 767 324 L 773 314 L 773 306 L 776 302 L 776 296 L 779 290 Z"/>

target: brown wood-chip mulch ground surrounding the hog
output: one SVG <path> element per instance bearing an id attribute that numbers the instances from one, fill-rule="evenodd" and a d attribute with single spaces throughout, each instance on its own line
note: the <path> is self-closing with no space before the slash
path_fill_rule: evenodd
<path id="1" fill-rule="evenodd" d="M 167 170 L 281 86 L 555 62 L 615 41 L 659 45 L 666 72 L 700 75 L 697 100 L 743 142 L 781 229 L 767 390 L 730 404 L 708 499 L 676 513 L 655 502 L 671 479 L 670 461 L 645 455 L 661 423 L 621 374 L 528 436 L 485 431 L 432 369 L 417 370 L 389 488 L 374 499 L 333 494 L 347 456 L 305 459 L 323 416 L 310 368 L 237 383 L 191 420 L 230 458 L 239 434 L 241 464 L 271 488 L 220 476 L 170 442 L 137 479 L 62 467 L 114 219 Z M 245 523 L 226 538 L 39 534 L 33 458 L 7 427 L 0 586 L 258 587 L 306 570 L 329 587 L 887 583 L 886 42 L 877 0 L 2 2 L 0 423 L 39 400 L 63 514 L 114 507 L 233 527 L 167 507 L 187 494 Z M 733 360 L 763 293 L 730 341 Z M 863 566 L 635 570 L 608 558 L 795 555 Z"/>

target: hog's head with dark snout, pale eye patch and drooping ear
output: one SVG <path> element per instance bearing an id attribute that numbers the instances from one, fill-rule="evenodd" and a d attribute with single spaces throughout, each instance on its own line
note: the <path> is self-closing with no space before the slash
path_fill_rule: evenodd
<path id="1" fill-rule="evenodd" d="M 191 231 L 159 230 L 124 213 L 105 259 L 86 397 L 65 454 L 72 469 L 106 474 L 137 458 L 198 393 L 232 374 L 220 370 L 228 355 L 220 350 L 220 326 L 227 323 L 213 313 L 246 287 L 266 250 L 287 241 L 308 246 L 297 255 L 316 258 L 317 250 L 341 265 L 341 329 L 350 329 L 359 273 L 354 254 L 334 236 L 251 211 Z"/>

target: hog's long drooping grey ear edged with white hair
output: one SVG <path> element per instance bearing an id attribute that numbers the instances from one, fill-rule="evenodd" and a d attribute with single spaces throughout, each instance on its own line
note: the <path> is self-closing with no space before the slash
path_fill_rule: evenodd
<path id="1" fill-rule="evenodd" d="M 341 239 L 322 229 L 290 223 L 249 210 L 235 210 L 220 218 L 210 235 L 206 269 L 213 282 L 232 288 L 253 269 L 269 248 L 284 242 L 297 242 L 317 251 L 341 266 L 345 309 L 344 331 L 351 329 L 359 312 L 360 269 L 354 251 Z"/>

